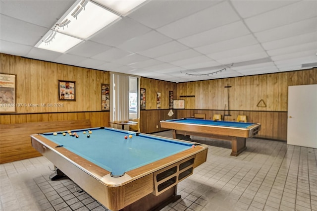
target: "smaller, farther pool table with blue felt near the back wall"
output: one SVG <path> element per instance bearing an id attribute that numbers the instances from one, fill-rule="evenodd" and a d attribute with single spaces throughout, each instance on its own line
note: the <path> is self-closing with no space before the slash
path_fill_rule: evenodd
<path id="1" fill-rule="evenodd" d="M 213 139 L 231 141 L 231 156 L 238 156 L 247 149 L 246 138 L 258 134 L 259 123 L 213 121 L 207 119 L 180 118 L 160 121 L 162 128 L 172 129 L 173 138 L 185 136 L 204 136 Z"/>

